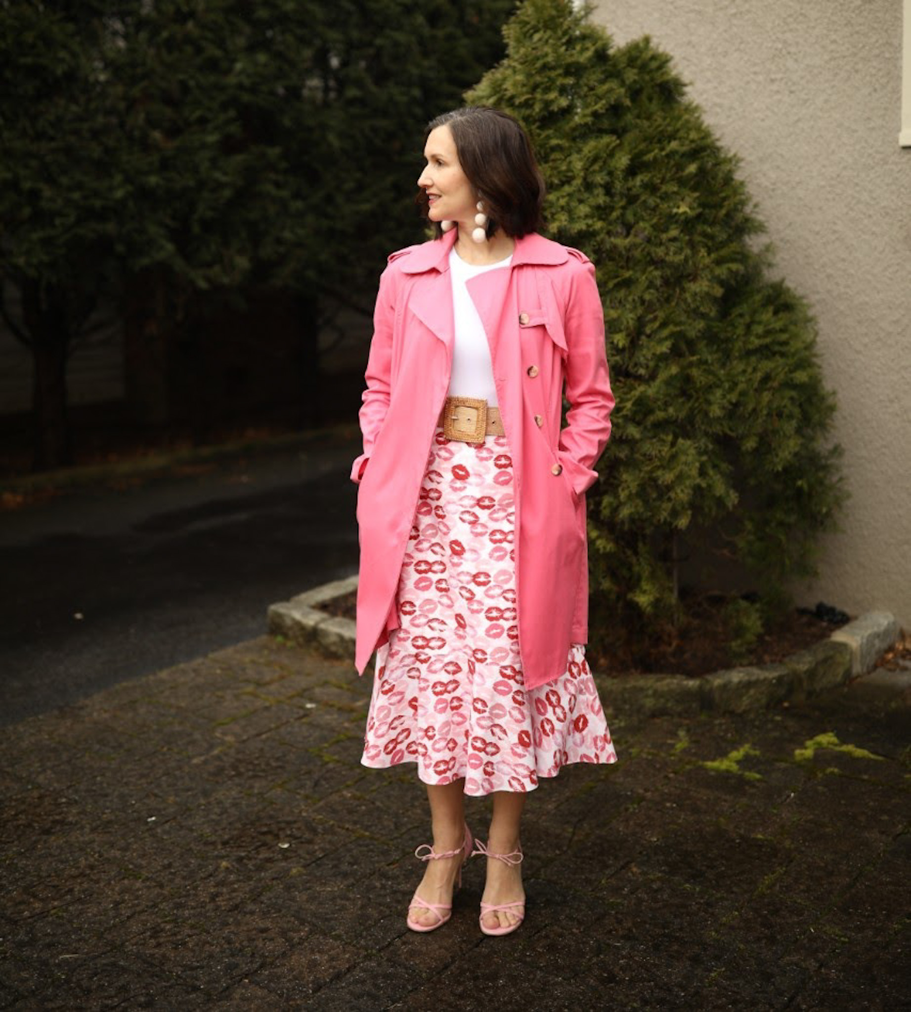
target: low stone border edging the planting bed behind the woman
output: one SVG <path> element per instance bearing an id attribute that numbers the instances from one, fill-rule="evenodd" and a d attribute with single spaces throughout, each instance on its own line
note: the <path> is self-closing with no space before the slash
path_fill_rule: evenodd
<path id="1" fill-rule="evenodd" d="M 314 648 L 329 657 L 353 658 L 354 622 L 320 611 L 316 605 L 357 587 L 357 576 L 315 587 L 289 601 L 270 605 L 269 632 Z M 629 675 L 603 678 L 610 708 L 638 712 L 692 713 L 716 710 L 745 713 L 785 701 L 801 701 L 844 685 L 872 671 L 899 639 L 901 629 L 887 611 L 869 611 L 813 647 L 777 664 L 731 668 L 700 678 L 685 675 Z"/>

